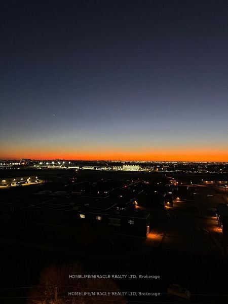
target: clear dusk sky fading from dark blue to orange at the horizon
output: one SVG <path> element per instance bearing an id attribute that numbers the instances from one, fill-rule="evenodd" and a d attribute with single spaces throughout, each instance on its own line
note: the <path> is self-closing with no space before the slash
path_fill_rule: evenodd
<path id="1" fill-rule="evenodd" d="M 226 0 L 0 12 L 0 158 L 228 161 Z"/>

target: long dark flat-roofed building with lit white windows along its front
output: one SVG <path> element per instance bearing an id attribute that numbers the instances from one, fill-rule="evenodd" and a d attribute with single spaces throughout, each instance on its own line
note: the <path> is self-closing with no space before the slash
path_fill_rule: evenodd
<path id="1" fill-rule="evenodd" d="M 104 232 L 142 238 L 150 231 L 150 213 L 135 208 L 134 200 L 129 198 L 43 191 L 24 199 L 21 205 L 5 205 L 4 212 L 22 222 L 68 227 L 88 223 L 91 228 L 99 225 Z"/>

